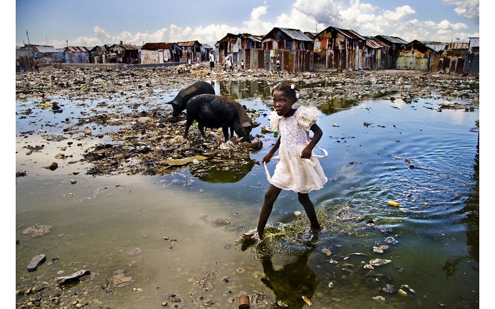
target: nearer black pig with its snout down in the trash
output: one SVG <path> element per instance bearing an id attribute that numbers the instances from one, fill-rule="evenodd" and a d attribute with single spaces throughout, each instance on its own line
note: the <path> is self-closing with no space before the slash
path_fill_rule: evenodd
<path id="1" fill-rule="evenodd" d="M 251 130 L 260 125 L 251 120 L 239 103 L 221 96 L 195 96 L 189 100 L 186 110 L 185 138 L 188 138 L 189 128 L 194 120 L 198 122 L 198 129 L 203 138 L 206 138 L 204 128 L 222 128 L 225 141 L 229 139 L 230 129 L 231 138 L 234 136 L 235 131 L 243 141 L 249 142 L 251 140 Z"/>

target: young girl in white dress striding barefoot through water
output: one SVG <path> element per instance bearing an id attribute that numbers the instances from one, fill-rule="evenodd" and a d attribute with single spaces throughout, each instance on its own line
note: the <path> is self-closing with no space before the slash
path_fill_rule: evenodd
<path id="1" fill-rule="evenodd" d="M 304 207 L 310 220 L 311 228 L 320 230 L 321 226 L 316 218 L 315 207 L 308 196 L 308 192 L 319 190 L 327 182 L 327 177 L 318 159 L 312 157 L 313 148 L 321 139 L 323 132 L 316 124 L 318 110 L 315 107 L 292 108 L 297 101 L 294 85 L 279 84 L 272 91 L 273 108 L 270 114 L 272 129 L 279 131 L 279 139 L 270 151 L 263 157 L 261 164 L 270 162 L 278 149 L 280 162 L 275 166 L 273 177 L 268 177 L 270 187 L 265 193 L 261 207 L 258 228 L 253 233 L 244 233 L 242 237 L 263 237 L 268 217 L 273 203 L 282 189 L 297 192 L 299 202 Z M 309 131 L 313 138 L 309 139 Z"/>

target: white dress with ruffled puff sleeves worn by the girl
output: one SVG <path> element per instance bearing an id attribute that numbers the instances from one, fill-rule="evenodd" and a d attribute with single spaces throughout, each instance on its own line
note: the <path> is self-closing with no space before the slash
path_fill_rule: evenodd
<path id="1" fill-rule="evenodd" d="M 275 111 L 270 114 L 270 125 L 272 129 L 278 128 L 280 134 L 280 161 L 273 177 L 268 179 L 273 186 L 308 193 L 323 188 L 327 182 L 317 158 L 301 159 L 301 152 L 309 142 L 310 128 L 319 114 L 315 107 L 299 107 L 290 117 L 279 116 Z"/>

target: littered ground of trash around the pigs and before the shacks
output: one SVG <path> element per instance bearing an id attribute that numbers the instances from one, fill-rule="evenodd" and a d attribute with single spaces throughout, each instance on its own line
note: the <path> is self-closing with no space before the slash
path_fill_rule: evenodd
<path id="1" fill-rule="evenodd" d="M 236 139 L 225 142 L 220 130 L 207 131 L 203 139 L 197 128 L 191 128 L 184 139 L 185 111 L 172 118 L 169 102 L 171 90 L 178 90 L 198 80 L 256 81 L 276 84 L 295 83 L 300 88 L 299 102 L 303 105 L 321 105 L 333 99 L 360 100 L 365 98 L 395 98 L 412 102 L 417 97 L 445 96 L 438 107 L 465 109 L 479 108 L 479 77 L 462 77 L 412 71 L 359 71 L 359 72 L 270 72 L 237 70 L 211 72 L 208 63 L 191 66 L 159 68 L 43 68 L 40 73 L 16 74 L 16 117 L 35 117 L 30 122 L 42 122 L 36 117 L 40 108 L 62 113 L 75 105 L 79 111 L 59 123 L 59 135 L 47 135 L 46 140 L 61 141 L 72 138 L 108 137 L 111 142 L 91 145 L 83 149 L 83 160 L 92 164 L 86 173 L 163 175 L 184 166 L 196 176 L 211 168 L 231 169 L 250 161 L 249 154 L 263 147 L 263 135 L 253 136 L 251 143 Z M 267 99 L 269 101 L 269 99 Z M 69 103 L 63 103 L 69 102 Z M 97 102 L 96 107 L 84 102 Z M 19 104 L 21 103 L 21 104 Z M 20 106 L 20 107 L 19 107 Z M 433 108 L 433 107 L 432 107 Z M 269 113 L 269 112 L 268 112 Z M 247 110 L 254 120 L 267 112 Z M 94 126 L 118 127 L 117 131 L 97 132 Z M 265 130 L 262 134 L 272 134 Z M 33 134 L 18 132 L 18 136 Z M 39 151 L 39 145 L 27 145 L 27 151 Z M 63 153 L 59 155 L 66 159 Z M 20 174 L 19 174 L 20 175 Z M 17 175 L 16 175 L 17 176 Z"/>

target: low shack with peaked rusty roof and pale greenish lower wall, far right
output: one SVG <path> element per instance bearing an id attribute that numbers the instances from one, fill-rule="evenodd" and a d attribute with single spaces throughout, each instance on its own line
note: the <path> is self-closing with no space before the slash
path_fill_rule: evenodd
<path id="1" fill-rule="evenodd" d="M 429 71 L 430 65 L 438 57 L 434 49 L 414 40 L 404 45 L 397 57 L 395 68 L 399 70 Z"/>

